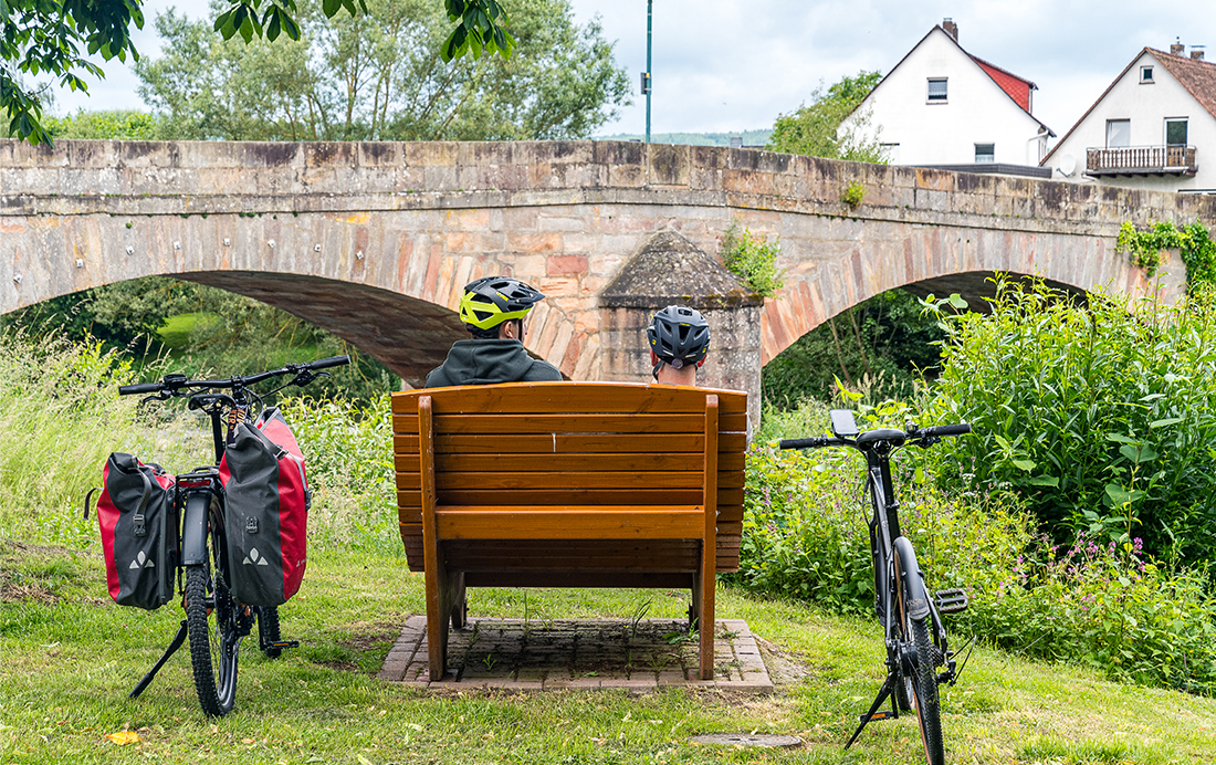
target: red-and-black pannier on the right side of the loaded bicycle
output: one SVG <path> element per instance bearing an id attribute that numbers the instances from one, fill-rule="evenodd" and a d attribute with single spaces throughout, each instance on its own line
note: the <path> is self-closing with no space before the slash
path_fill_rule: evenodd
<path id="1" fill-rule="evenodd" d="M 278 407 L 240 423 L 220 460 L 232 597 L 281 606 L 300 589 L 311 493 L 304 456 Z"/>

